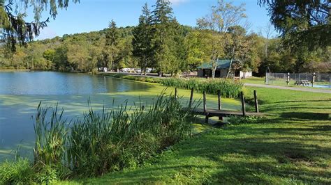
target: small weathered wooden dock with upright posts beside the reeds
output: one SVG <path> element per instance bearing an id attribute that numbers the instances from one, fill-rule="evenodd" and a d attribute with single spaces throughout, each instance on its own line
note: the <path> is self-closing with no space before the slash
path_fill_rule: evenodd
<path id="1" fill-rule="evenodd" d="M 208 119 L 211 117 L 219 117 L 219 120 L 223 120 L 223 117 L 229 116 L 264 116 L 264 113 L 260 113 L 258 111 L 258 95 L 256 90 L 254 90 L 254 104 L 255 104 L 255 112 L 247 112 L 246 104 L 244 99 L 244 93 L 240 93 L 241 102 L 242 102 L 242 111 L 228 111 L 223 110 L 221 105 L 221 90 L 218 90 L 218 109 L 210 109 L 207 108 L 207 95 L 203 92 L 203 108 L 193 108 L 192 112 L 198 115 L 205 115 L 205 122 L 208 122 Z M 177 88 L 175 88 L 175 97 L 177 97 Z M 193 101 L 193 88 L 191 89 L 191 97 L 189 102 L 189 107 L 191 107 Z"/>

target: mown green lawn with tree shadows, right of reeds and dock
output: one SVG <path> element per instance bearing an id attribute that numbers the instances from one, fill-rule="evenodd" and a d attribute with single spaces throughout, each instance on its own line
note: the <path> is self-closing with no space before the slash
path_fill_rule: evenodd
<path id="1" fill-rule="evenodd" d="M 256 90 L 260 111 L 274 114 L 265 120 L 215 127 L 140 168 L 66 183 L 330 184 L 330 95 Z"/>

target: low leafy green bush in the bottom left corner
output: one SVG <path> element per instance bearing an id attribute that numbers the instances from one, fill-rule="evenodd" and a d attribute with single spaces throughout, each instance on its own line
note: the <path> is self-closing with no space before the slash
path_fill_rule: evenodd
<path id="1" fill-rule="evenodd" d="M 34 178 L 29 159 L 18 158 L 0 165 L 0 184 L 31 184 Z"/>

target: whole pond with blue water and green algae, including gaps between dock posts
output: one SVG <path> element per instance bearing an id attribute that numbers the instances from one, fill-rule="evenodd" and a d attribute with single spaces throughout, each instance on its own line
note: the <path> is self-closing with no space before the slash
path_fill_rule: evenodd
<path id="1" fill-rule="evenodd" d="M 0 161 L 13 157 L 17 146 L 22 156 L 32 156 L 34 146 L 34 120 L 39 102 L 43 106 L 64 108 L 68 119 L 82 116 L 89 110 L 88 99 L 94 110 L 116 109 L 126 101 L 129 106 L 151 102 L 162 91 L 172 93 L 173 88 L 102 75 L 62 72 L 0 72 Z M 179 90 L 182 103 L 189 101 L 189 90 Z M 195 93 L 195 98 L 202 95 Z M 216 108 L 216 96 L 209 95 L 207 106 Z M 240 102 L 223 99 L 223 107 L 239 109 Z"/>

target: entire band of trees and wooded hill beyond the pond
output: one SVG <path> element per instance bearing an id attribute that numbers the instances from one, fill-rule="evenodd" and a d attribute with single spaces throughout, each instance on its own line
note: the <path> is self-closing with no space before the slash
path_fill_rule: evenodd
<path id="1" fill-rule="evenodd" d="M 237 22 L 216 17 L 234 12 Z M 258 75 L 268 67 L 272 72 L 330 72 L 330 47 L 294 50 L 285 47 L 281 38 L 252 33 L 241 24 L 246 18 L 244 8 L 231 3 L 219 1 L 210 15 L 224 24 L 206 16 L 197 20 L 196 27 L 183 26 L 168 1 L 156 1 L 153 10 L 147 4 L 143 7 L 138 26 L 117 28 L 112 20 L 102 31 L 34 41 L 15 52 L 2 45 L 0 68 L 95 72 L 103 67 L 115 71 L 153 67 L 159 74 L 176 75 L 196 70 L 203 62 L 227 58 L 241 62 L 232 70 L 240 67 Z"/>

